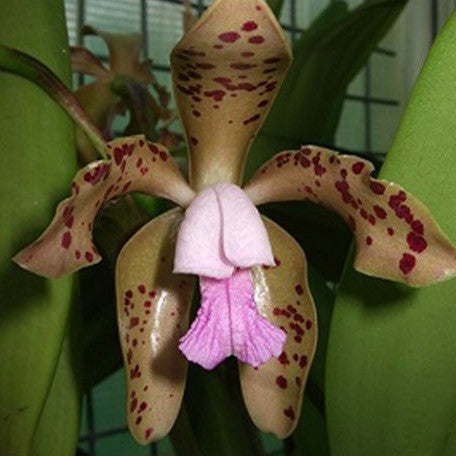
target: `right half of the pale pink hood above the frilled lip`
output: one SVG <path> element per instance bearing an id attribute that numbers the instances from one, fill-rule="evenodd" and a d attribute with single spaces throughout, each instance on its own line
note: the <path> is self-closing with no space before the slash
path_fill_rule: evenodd
<path id="1" fill-rule="evenodd" d="M 274 266 L 268 233 L 260 213 L 237 185 L 214 186 L 222 214 L 223 252 L 238 268 Z"/>

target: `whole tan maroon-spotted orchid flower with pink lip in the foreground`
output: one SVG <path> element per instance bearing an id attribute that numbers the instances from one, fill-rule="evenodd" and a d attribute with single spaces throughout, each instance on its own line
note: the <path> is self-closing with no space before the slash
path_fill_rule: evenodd
<path id="1" fill-rule="evenodd" d="M 355 268 L 366 274 L 417 286 L 456 272 L 456 250 L 429 211 L 370 177 L 365 160 L 305 146 L 279 153 L 239 187 L 290 61 L 266 2 L 216 0 L 171 55 L 189 182 L 160 144 L 111 141 L 109 159 L 79 171 L 49 228 L 15 258 L 38 274 L 67 274 L 100 261 L 91 232 L 106 201 L 140 191 L 180 206 L 139 230 L 117 262 L 128 423 L 141 443 L 172 427 L 185 358 L 210 369 L 235 355 L 255 424 L 283 438 L 297 423 L 317 340 L 306 259 L 255 205 L 310 200 L 336 211 L 353 230 Z M 186 332 L 196 276 L 201 307 Z"/>

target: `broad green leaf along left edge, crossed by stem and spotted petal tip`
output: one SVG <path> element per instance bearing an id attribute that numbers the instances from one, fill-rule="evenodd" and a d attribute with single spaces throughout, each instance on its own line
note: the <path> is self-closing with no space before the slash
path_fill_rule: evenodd
<path id="1" fill-rule="evenodd" d="M 2 1 L 0 42 L 69 81 L 66 40 L 60 2 Z M 0 104 L 0 453 L 25 456 L 59 357 L 72 279 L 38 278 L 11 257 L 49 222 L 75 153 L 71 120 L 40 88 L 0 72 Z"/>

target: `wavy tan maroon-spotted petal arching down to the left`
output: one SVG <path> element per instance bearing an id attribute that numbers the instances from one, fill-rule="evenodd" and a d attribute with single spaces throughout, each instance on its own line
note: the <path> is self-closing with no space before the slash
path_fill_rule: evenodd
<path id="1" fill-rule="evenodd" d="M 139 191 L 170 199 L 181 206 L 194 193 L 166 149 L 143 136 L 107 144 L 110 160 L 92 163 L 76 174 L 72 195 L 57 207 L 53 221 L 14 260 L 21 267 L 58 277 L 100 261 L 92 241 L 95 216 L 104 202 Z"/>

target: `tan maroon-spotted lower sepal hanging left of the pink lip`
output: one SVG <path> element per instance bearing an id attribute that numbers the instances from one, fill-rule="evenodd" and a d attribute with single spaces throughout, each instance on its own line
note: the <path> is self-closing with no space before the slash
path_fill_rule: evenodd
<path id="1" fill-rule="evenodd" d="M 172 273 L 181 219 L 180 209 L 154 219 L 127 242 L 117 260 L 128 426 L 143 444 L 169 432 L 184 393 L 187 362 L 178 341 L 188 327 L 195 281 Z"/>

